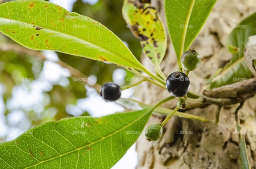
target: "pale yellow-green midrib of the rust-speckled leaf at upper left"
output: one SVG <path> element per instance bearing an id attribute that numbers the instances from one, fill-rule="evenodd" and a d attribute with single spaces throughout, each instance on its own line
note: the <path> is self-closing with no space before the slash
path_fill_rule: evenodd
<path id="1" fill-rule="evenodd" d="M 73 13 L 73 12 L 71 12 L 71 13 Z M 70 14 L 71 14 L 70 13 Z M 0 18 L 2 18 L 2 19 L 5 19 L 5 20 L 13 20 L 13 21 L 15 21 L 15 22 L 21 22 L 20 20 L 17 20 L 17 19 L 13 19 L 13 18 L 3 18 L 3 17 L 0 17 Z M 119 55 L 117 55 L 117 54 L 115 54 L 115 53 L 113 53 L 113 52 L 110 52 L 110 51 L 108 51 L 107 49 L 105 49 L 105 48 L 103 48 L 103 47 L 100 47 L 99 45 L 97 45 L 97 44 L 94 44 L 94 43 L 91 43 L 91 42 L 89 42 L 89 41 L 87 41 L 87 40 L 85 40 L 85 39 L 82 39 L 81 37 L 78 37 L 78 36 L 75 36 L 75 35 L 69 35 L 69 34 L 67 34 L 67 33 L 65 33 L 65 32 L 62 32 L 62 31 L 59 31 L 58 29 L 49 29 L 49 28 L 47 28 L 47 27 L 45 27 L 45 26 L 41 26 L 41 25 L 38 25 L 38 24 L 31 24 L 31 23 L 28 23 L 28 22 L 21 22 L 21 23 L 26 23 L 26 24 L 29 24 L 29 25 L 32 25 L 32 26 L 37 26 L 37 27 L 40 27 L 40 28 L 43 28 L 43 29 L 47 29 L 47 30 L 49 30 L 49 31 L 55 31 L 55 32 L 58 32 L 58 33 L 62 33 L 62 34 L 64 34 L 64 35 L 66 35 L 66 36 L 71 36 L 71 37 L 74 37 L 74 38 L 77 38 L 77 39 L 79 39 L 79 40 L 82 40 L 82 41 L 85 41 L 85 42 L 87 42 L 87 43 L 89 43 L 89 44 L 92 44 L 92 45 L 94 45 L 94 46 L 96 46 L 97 48 L 99 48 L 99 49 L 103 49 L 104 51 L 106 51 L 106 53 L 111 53 L 111 54 L 113 54 L 114 56 L 117 56 L 118 58 L 121 58 L 121 59 L 123 59 L 123 60 L 125 60 L 126 62 L 128 62 L 128 63 L 130 63 L 131 65 L 134 65 L 134 62 L 130 62 L 130 60 L 129 59 L 126 59 L 125 57 L 122 57 L 122 56 L 119 56 Z M 110 30 L 109 30 L 110 31 Z M 5 34 L 5 33 L 4 33 Z M 115 34 L 114 34 L 115 35 Z M 8 36 L 8 35 L 7 35 Z M 117 37 L 117 38 L 119 38 L 119 37 Z M 18 42 L 19 43 L 19 42 Z M 36 50 L 36 49 L 35 49 Z M 129 51 L 129 49 L 128 49 L 128 51 Z M 62 51 L 59 51 L 59 52 L 62 52 Z M 129 51 L 130 52 L 130 51 Z M 65 52 L 62 52 L 62 53 L 65 53 Z M 130 52 L 131 53 L 131 52 Z M 83 56 L 83 55 L 79 55 L 79 56 Z M 131 56 L 133 56 L 133 54 L 131 54 Z M 134 56 L 133 56 L 134 57 Z M 87 57 L 87 58 L 90 58 L 90 57 Z M 134 57 L 135 58 L 135 57 Z M 135 58 L 135 60 L 137 60 L 136 58 Z M 140 62 L 138 62 L 137 64 L 139 64 L 139 66 L 140 67 L 137 67 L 137 69 L 140 69 L 140 70 L 143 70 L 144 69 L 144 66 L 142 66 L 141 64 L 140 64 Z"/>

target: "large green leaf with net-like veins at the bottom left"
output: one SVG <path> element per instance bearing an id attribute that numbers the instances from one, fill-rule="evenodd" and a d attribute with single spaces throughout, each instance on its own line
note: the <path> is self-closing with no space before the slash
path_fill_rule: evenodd
<path id="1" fill-rule="evenodd" d="M 47 122 L 0 144 L 0 166 L 111 168 L 138 139 L 152 111 Z"/>

